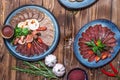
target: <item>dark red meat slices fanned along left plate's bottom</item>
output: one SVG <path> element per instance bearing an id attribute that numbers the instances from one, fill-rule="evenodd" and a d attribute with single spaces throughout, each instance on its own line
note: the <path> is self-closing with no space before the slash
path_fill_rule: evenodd
<path id="1" fill-rule="evenodd" d="M 17 44 L 16 51 L 25 56 L 33 56 L 44 53 L 48 50 L 48 45 L 40 43 L 37 40 L 26 44 Z"/>

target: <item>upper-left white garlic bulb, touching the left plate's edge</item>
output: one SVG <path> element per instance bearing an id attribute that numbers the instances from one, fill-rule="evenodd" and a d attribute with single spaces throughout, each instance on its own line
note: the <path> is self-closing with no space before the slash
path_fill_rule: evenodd
<path id="1" fill-rule="evenodd" d="M 57 58 L 55 55 L 50 54 L 50 55 L 46 56 L 46 58 L 45 58 L 45 64 L 48 67 L 55 66 L 56 62 L 57 62 Z"/>

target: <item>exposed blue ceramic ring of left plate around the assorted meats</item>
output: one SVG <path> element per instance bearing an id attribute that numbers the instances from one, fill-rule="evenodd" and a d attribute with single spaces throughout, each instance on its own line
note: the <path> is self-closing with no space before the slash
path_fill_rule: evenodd
<path id="1" fill-rule="evenodd" d="M 49 47 L 49 49 L 45 53 L 40 54 L 40 55 L 34 55 L 32 57 L 27 57 L 27 56 L 21 55 L 20 53 L 17 53 L 16 50 L 15 50 L 15 46 L 11 45 L 10 40 L 4 39 L 4 43 L 7 46 L 7 48 L 9 49 L 10 53 L 13 56 L 17 57 L 18 59 L 26 60 L 26 61 L 37 61 L 37 60 L 43 59 L 46 55 L 52 53 L 55 50 L 55 48 L 57 46 L 57 43 L 59 41 L 59 34 L 60 34 L 59 26 L 58 26 L 58 23 L 57 23 L 57 21 L 56 21 L 56 19 L 53 16 L 52 13 L 50 13 L 47 9 L 45 9 L 45 8 L 43 8 L 41 6 L 37 6 L 37 5 L 25 5 L 25 6 L 21 6 L 21 7 L 17 8 L 17 9 L 15 9 L 14 11 L 12 11 L 9 14 L 9 16 L 7 17 L 7 19 L 4 22 L 4 25 L 6 25 L 6 24 L 9 25 L 10 19 L 13 16 L 15 16 L 16 13 L 19 13 L 21 10 L 24 10 L 26 8 L 37 9 L 37 10 L 45 13 L 52 20 L 53 25 L 54 25 L 54 29 L 55 29 L 55 34 L 54 34 L 55 36 L 54 36 L 53 44 Z"/>

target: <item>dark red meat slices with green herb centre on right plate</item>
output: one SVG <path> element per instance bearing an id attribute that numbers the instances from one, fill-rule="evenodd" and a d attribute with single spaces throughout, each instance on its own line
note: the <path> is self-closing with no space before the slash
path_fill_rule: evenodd
<path id="1" fill-rule="evenodd" d="M 90 26 L 79 38 L 79 51 L 89 62 L 106 59 L 111 56 L 116 46 L 115 33 L 107 27 L 98 24 Z"/>

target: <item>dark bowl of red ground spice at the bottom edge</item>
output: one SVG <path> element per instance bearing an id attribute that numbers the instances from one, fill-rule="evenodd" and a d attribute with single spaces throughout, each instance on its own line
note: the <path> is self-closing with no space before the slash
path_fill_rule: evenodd
<path id="1" fill-rule="evenodd" d="M 86 73 L 81 69 L 75 68 L 68 73 L 67 80 L 87 80 Z"/>

